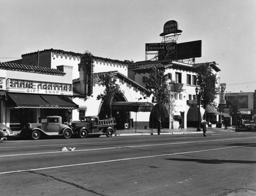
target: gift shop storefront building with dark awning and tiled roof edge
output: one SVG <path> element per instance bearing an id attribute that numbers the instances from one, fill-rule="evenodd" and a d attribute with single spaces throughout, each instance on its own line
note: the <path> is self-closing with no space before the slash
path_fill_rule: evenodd
<path id="1" fill-rule="evenodd" d="M 39 116 L 65 117 L 67 110 L 78 108 L 72 101 L 72 72 L 70 66 L 52 69 L 0 62 L 1 123 L 15 130 L 38 122 Z"/>

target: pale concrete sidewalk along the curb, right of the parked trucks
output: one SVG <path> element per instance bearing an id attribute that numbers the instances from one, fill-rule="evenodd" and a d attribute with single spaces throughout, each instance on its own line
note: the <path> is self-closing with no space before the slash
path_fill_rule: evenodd
<path id="1" fill-rule="evenodd" d="M 234 128 L 230 127 L 227 130 L 223 128 L 215 128 L 215 127 L 207 127 L 207 133 L 213 133 L 213 132 L 234 132 Z M 187 128 L 162 128 L 161 129 L 161 135 L 173 135 L 173 134 L 203 134 L 202 128 L 201 132 L 197 132 L 197 128 L 195 127 L 187 127 Z M 136 129 L 130 128 L 130 129 L 121 129 L 116 130 L 116 136 L 140 136 L 140 135 L 157 135 L 157 129 Z"/>

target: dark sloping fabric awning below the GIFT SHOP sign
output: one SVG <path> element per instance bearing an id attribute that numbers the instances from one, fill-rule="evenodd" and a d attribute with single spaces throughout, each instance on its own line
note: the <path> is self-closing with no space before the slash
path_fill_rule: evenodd
<path id="1" fill-rule="evenodd" d="M 8 93 L 6 107 L 14 108 L 78 108 L 67 96 Z"/>

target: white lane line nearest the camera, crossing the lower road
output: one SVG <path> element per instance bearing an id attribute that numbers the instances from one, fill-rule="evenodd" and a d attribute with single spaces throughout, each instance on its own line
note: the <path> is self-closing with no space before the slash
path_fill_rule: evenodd
<path id="1" fill-rule="evenodd" d="M 255 145 L 255 144 L 248 144 L 248 145 L 244 145 L 244 146 L 250 146 L 250 145 Z M 205 151 L 222 150 L 222 149 L 235 148 L 235 147 L 241 147 L 241 146 L 229 146 L 229 147 L 223 147 L 223 148 L 212 148 L 212 149 L 206 149 L 206 150 L 188 151 L 188 152 L 183 152 L 183 153 L 172 153 L 172 154 L 164 154 L 164 155 L 152 155 L 152 156 L 145 156 L 145 157 L 133 157 L 133 158 L 115 159 L 115 160 L 109 160 L 109 161 L 97 161 L 97 162 L 90 162 L 90 163 L 79 163 L 79 164 L 72 164 L 72 165 L 59 165 L 59 166 L 54 166 L 54 167 L 42 167 L 42 168 L 36 168 L 36 169 L 24 169 L 24 170 L 15 170 L 15 171 L 5 171 L 5 172 L 0 172 L 0 175 L 8 174 L 8 173 L 25 172 L 25 171 L 37 171 L 37 170 L 55 169 L 55 168 L 63 168 L 63 167 L 74 167 L 74 166 L 81 166 L 81 165 L 93 165 L 93 164 L 100 164 L 100 163 L 110 163 L 110 162 L 118 162 L 118 161 L 129 161 L 129 160 L 136 160 L 136 159 L 164 157 L 164 156 L 171 156 L 171 155 L 184 155 L 184 154 L 189 154 L 189 153 L 201 153 L 201 152 L 205 152 Z"/>

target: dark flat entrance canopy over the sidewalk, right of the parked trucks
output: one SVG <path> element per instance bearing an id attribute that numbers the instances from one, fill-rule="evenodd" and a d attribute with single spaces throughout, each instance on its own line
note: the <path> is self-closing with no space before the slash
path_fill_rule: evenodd
<path id="1" fill-rule="evenodd" d="M 112 103 L 112 110 L 125 112 L 151 112 L 154 104 L 148 102 L 118 101 Z"/>

